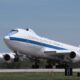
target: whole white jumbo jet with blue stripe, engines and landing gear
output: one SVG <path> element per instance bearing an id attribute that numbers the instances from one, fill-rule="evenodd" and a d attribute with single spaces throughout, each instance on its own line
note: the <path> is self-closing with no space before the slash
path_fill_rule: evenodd
<path id="1" fill-rule="evenodd" d="M 34 60 L 32 68 L 39 68 L 40 58 L 47 59 L 46 68 L 52 68 L 52 63 L 75 63 L 80 61 L 80 48 L 37 35 L 32 29 L 16 28 L 11 30 L 5 37 L 4 42 L 15 55 L 5 54 L 4 59 L 9 61 L 19 60 L 19 54 L 25 54 Z"/>

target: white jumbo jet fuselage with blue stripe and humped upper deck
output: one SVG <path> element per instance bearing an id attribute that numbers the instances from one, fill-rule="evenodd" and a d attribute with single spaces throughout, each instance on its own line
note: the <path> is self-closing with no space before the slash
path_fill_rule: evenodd
<path id="1" fill-rule="evenodd" d="M 11 50 L 22 54 L 53 59 L 55 58 L 55 52 L 59 55 L 61 53 L 65 55 L 74 52 L 76 56 L 72 60 L 80 60 L 79 47 L 40 37 L 31 29 L 14 29 L 5 36 L 4 41 Z M 48 54 L 46 52 L 48 52 Z M 49 52 L 53 53 L 49 54 Z"/>

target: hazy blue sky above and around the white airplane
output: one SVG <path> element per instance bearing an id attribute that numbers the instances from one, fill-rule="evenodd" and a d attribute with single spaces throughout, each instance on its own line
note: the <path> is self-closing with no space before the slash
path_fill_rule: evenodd
<path id="1" fill-rule="evenodd" d="M 74 46 L 80 44 L 80 0 L 0 0 L 0 52 L 3 37 L 15 28 Z"/>

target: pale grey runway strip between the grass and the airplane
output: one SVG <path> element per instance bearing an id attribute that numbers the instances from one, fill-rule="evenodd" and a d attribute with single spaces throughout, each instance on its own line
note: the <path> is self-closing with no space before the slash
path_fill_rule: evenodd
<path id="1" fill-rule="evenodd" d="M 0 69 L 0 72 L 65 72 L 64 69 Z M 80 72 L 80 69 L 73 69 L 73 72 Z"/>

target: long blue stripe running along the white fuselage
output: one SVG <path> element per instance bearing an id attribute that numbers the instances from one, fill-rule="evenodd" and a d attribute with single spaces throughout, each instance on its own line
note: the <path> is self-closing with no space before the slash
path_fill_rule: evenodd
<path id="1" fill-rule="evenodd" d="M 34 41 L 34 40 L 29 40 L 29 39 L 10 37 L 10 40 L 31 43 L 31 44 L 35 44 L 35 45 L 39 45 L 39 46 L 44 46 L 44 47 L 48 47 L 48 48 L 53 48 L 53 49 L 57 49 L 57 50 L 67 50 L 65 48 L 61 48 L 61 47 L 58 47 L 58 46 L 54 46 L 54 45 L 50 45 L 50 44 L 47 44 L 47 43 L 42 43 L 42 42 L 38 42 L 38 41 Z"/>

